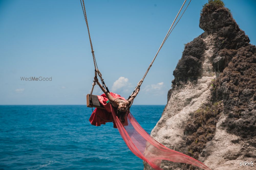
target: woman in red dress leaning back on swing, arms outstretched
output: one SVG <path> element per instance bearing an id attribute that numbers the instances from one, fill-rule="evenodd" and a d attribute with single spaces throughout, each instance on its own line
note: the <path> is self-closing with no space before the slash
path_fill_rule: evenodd
<path id="1" fill-rule="evenodd" d="M 109 93 L 108 91 L 106 91 L 106 89 L 100 84 L 97 77 L 94 77 L 94 81 L 100 86 L 100 89 L 104 92 L 104 94 L 98 96 L 98 99 L 105 109 L 95 108 L 89 119 L 91 124 L 95 126 L 100 126 L 101 124 L 105 124 L 106 122 L 113 122 L 114 128 L 117 128 L 112 116 L 112 109 L 114 109 L 116 116 L 119 118 L 123 126 L 127 125 L 127 115 L 129 114 L 130 109 L 129 106 L 133 99 L 137 96 L 140 88 L 137 88 L 131 98 L 129 100 L 126 100 L 125 98 L 121 97 L 116 93 Z"/>

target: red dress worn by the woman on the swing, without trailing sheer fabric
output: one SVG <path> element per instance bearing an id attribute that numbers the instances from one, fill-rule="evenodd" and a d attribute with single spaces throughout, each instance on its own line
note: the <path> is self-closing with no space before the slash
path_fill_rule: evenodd
<path id="1" fill-rule="evenodd" d="M 116 93 L 110 92 L 110 95 L 113 96 L 115 99 L 119 98 L 124 101 L 126 101 L 125 98 L 121 97 L 120 95 Z M 106 122 L 113 122 L 114 128 L 117 128 L 114 120 L 113 120 L 113 115 L 111 113 L 111 107 L 113 109 L 113 106 L 111 105 L 110 102 L 107 103 L 109 100 L 105 94 L 102 94 L 101 96 L 98 96 L 99 102 L 102 104 L 102 106 L 105 109 L 100 109 L 100 108 L 95 108 L 89 121 L 91 122 L 92 125 L 95 126 L 100 126 L 101 124 L 106 124 Z M 119 119 L 121 121 L 121 119 Z M 127 116 L 125 116 L 125 122 L 122 124 L 123 126 L 128 125 L 127 121 Z"/>

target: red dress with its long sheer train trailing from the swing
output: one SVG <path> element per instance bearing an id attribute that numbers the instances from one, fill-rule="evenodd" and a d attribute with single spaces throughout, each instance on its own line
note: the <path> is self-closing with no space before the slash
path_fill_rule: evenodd
<path id="1" fill-rule="evenodd" d="M 118 94 L 110 93 L 114 98 L 125 100 Z M 113 122 L 114 127 L 118 128 L 127 147 L 139 158 L 147 162 L 152 168 L 156 170 L 163 170 L 161 166 L 162 160 L 187 163 L 195 165 L 205 170 L 210 170 L 206 165 L 200 161 L 191 158 L 188 155 L 177 152 L 163 146 L 152 138 L 135 120 L 131 113 L 126 116 L 125 123 L 121 123 L 116 116 L 116 110 L 110 103 L 106 103 L 108 99 L 105 94 L 98 96 L 99 101 L 104 106 L 104 109 L 96 108 L 91 117 L 90 122 L 92 125 L 100 126 L 106 122 Z M 104 120 L 102 120 L 101 118 Z M 127 119 L 128 118 L 128 119 Z M 112 120 L 112 121 L 111 121 Z"/>

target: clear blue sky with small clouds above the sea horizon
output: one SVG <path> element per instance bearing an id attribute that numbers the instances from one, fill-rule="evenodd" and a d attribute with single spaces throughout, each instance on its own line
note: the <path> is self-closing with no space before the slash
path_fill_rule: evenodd
<path id="1" fill-rule="evenodd" d="M 191 1 L 134 104 L 166 104 L 184 44 L 203 33 L 199 17 L 207 2 Z M 131 94 L 182 3 L 85 1 L 95 57 L 109 89 L 125 98 Z M 255 45 L 256 1 L 224 3 Z M 0 58 L 0 104 L 86 104 L 94 65 L 80 1 L 0 1 Z M 52 81 L 20 80 L 30 76 Z M 94 94 L 101 94 L 99 87 Z"/>

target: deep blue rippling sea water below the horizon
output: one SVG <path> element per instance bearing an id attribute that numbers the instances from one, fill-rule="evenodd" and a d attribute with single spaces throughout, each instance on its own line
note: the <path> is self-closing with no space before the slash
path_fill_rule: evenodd
<path id="1" fill-rule="evenodd" d="M 150 134 L 164 105 L 133 105 Z M 109 122 L 93 126 L 85 105 L 0 106 L 0 169 L 143 169 Z"/>

